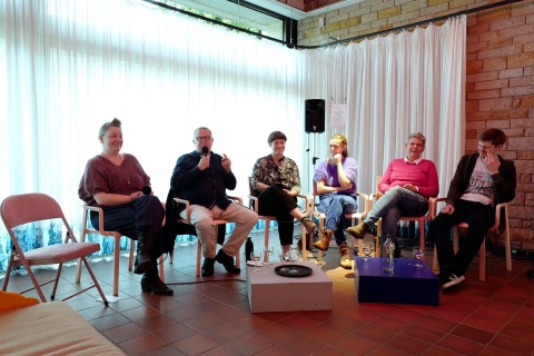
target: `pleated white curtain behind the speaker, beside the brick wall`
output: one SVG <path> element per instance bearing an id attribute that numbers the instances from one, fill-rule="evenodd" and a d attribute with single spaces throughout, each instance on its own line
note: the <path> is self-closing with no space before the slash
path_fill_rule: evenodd
<path id="1" fill-rule="evenodd" d="M 408 135 L 419 131 L 446 195 L 464 152 L 465 21 L 307 51 L 306 96 L 325 99 L 327 108 L 326 132 L 309 135 L 316 157 L 328 156 L 334 134 L 346 135 L 357 189 L 369 194 L 389 161 L 405 156 Z M 343 128 L 330 127 L 334 103 L 346 105 Z M 310 181 L 313 161 L 305 167 Z"/>

